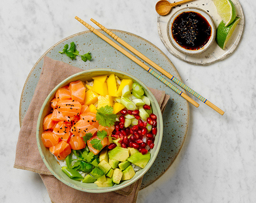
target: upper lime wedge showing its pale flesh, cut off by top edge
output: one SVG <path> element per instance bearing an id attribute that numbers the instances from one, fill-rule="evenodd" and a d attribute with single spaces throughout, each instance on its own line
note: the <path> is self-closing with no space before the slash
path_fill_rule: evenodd
<path id="1" fill-rule="evenodd" d="M 237 15 L 233 2 L 230 0 L 213 0 L 213 3 L 216 6 L 219 16 L 221 16 L 221 19 L 225 23 L 225 26 L 229 26 Z"/>

